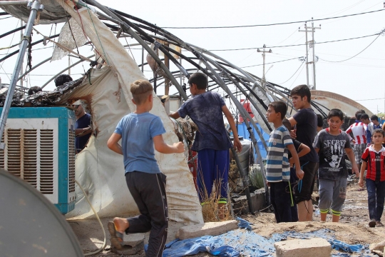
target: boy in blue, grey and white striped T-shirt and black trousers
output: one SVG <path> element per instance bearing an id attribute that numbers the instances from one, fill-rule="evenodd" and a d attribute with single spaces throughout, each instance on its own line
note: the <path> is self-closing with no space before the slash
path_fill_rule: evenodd
<path id="1" fill-rule="evenodd" d="M 289 183 L 290 163 L 288 153 L 292 153 L 297 178 L 302 179 L 304 172 L 299 165 L 297 151 L 294 148 L 289 131 L 282 124 L 287 112 L 287 105 L 283 101 L 274 101 L 267 108 L 267 121 L 274 124 L 267 144 L 266 180 L 270 185 L 270 202 L 274 207 L 274 215 L 279 222 L 292 221 L 290 203 L 292 188 Z"/>

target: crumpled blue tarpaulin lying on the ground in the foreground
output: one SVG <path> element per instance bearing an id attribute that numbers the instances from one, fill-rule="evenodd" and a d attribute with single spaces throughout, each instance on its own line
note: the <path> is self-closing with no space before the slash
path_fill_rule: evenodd
<path id="1" fill-rule="evenodd" d="M 224 233 L 220 236 L 201 236 L 198 238 L 185 239 L 183 241 L 175 240 L 166 245 L 163 257 L 188 256 L 200 252 L 211 253 L 214 256 L 233 257 L 233 256 L 272 256 L 275 252 L 274 243 L 290 238 L 324 238 L 332 248 L 344 251 L 344 253 L 334 254 L 332 256 L 350 256 L 349 253 L 360 253 L 360 256 L 369 256 L 368 246 L 361 244 L 349 245 L 336 240 L 334 233 L 330 229 L 320 229 L 318 231 L 300 233 L 295 231 L 286 231 L 284 233 L 274 233 L 270 238 L 258 235 L 247 228 L 251 228 L 251 223 L 237 218 L 240 221 L 239 228 L 234 231 Z"/>

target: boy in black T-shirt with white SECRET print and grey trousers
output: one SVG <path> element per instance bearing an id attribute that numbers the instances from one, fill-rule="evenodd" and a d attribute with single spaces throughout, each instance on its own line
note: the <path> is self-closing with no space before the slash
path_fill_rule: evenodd
<path id="1" fill-rule="evenodd" d="M 326 221 L 329 209 L 332 209 L 332 221 L 338 222 L 342 205 L 347 194 L 347 164 L 345 154 L 351 161 L 351 170 L 359 175 L 350 138 L 339 129 L 344 121 L 344 114 L 339 109 L 332 109 L 327 116 L 329 128 L 319 131 L 313 147 L 319 154 L 319 211 L 321 221 Z"/>

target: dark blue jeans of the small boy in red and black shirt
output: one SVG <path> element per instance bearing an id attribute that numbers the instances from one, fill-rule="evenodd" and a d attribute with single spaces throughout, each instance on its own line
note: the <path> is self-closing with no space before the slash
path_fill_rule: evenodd
<path id="1" fill-rule="evenodd" d="M 384 211 L 385 181 L 373 181 L 366 178 L 366 190 L 368 191 L 369 218 L 381 221 Z"/>

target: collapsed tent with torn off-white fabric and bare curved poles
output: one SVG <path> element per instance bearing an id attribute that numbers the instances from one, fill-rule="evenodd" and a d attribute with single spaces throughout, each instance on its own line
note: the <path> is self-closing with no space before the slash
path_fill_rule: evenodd
<path id="1" fill-rule="evenodd" d="M 119 37 L 132 37 L 138 42 L 137 45 L 142 46 L 143 53 L 147 51 L 148 63 L 145 64 L 142 61 L 139 66 L 141 66 L 142 71 L 145 65 L 150 66 L 153 70 L 154 76 L 150 82 L 154 84 L 155 90 L 160 85 L 164 85 L 165 88 L 174 86 L 178 91 L 175 94 L 180 95 L 181 99 L 185 101 L 189 97 L 186 94 L 187 88 L 183 88 L 177 79 L 188 78 L 195 71 L 206 74 L 209 78 L 208 89 L 222 89 L 227 94 L 226 97 L 235 104 L 235 108 L 242 116 L 245 127 L 250 134 L 252 148 L 257 156 L 255 161 L 262 163 L 261 148 L 266 149 L 267 145 L 265 140 L 258 141 L 258 138 L 264 138 L 264 133 L 272 131 L 272 125 L 265 118 L 267 105 L 271 101 L 283 100 L 292 107 L 292 102 L 288 98 L 289 89 L 269 82 L 262 83 L 260 77 L 240 69 L 210 51 L 188 44 L 154 24 L 130 14 L 109 9 L 97 1 L 42 0 L 41 4 L 48 6 L 46 11 L 43 11 L 39 16 L 39 21 L 42 24 L 58 21 L 66 21 L 67 24 L 61 31 L 59 41 L 54 42 L 56 49 L 53 56 L 31 67 L 21 78 L 48 61 L 60 59 L 68 52 L 80 58 L 76 64 L 91 61 L 94 68 L 88 71 L 82 80 L 76 81 L 74 84 L 55 89 L 52 93 L 39 93 L 24 100 L 16 97 L 12 105 L 66 105 L 77 99 L 83 99 L 87 102 L 88 109 L 93 115 L 93 126 L 97 133 L 96 136 L 91 136 L 87 148 L 78 153 L 76 157 L 76 179 L 86 188 L 99 215 L 118 216 L 136 212 L 133 199 L 128 199 L 129 193 L 123 179 L 122 157 L 113 153 L 106 146 L 106 141 L 113 133 L 120 118 L 135 109 L 130 101 L 130 83 L 136 79 L 145 79 L 138 64 L 118 40 Z M 54 8 L 51 8 L 52 6 Z M 13 16 L 24 19 L 24 21 L 27 20 L 28 15 L 25 14 L 25 11 L 21 11 L 24 10 L 24 6 L 7 6 L 4 9 Z M 43 40 L 31 42 L 29 49 L 33 50 L 31 48 L 34 45 L 40 42 L 44 43 L 57 36 L 46 36 Z M 72 51 L 74 48 L 85 44 L 91 44 L 95 47 L 95 55 L 81 56 Z M 185 50 L 183 54 L 180 49 Z M 7 54 L 0 61 L 6 60 L 17 52 Z M 160 59 L 161 54 L 163 54 L 164 59 Z M 94 56 L 95 59 L 91 60 Z M 166 65 L 166 60 L 171 65 Z M 71 66 L 68 66 L 68 69 Z M 66 69 L 59 74 L 64 72 Z M 48 80 L 42 88 L 53 79 L 54 77 Z M 236 89 L 235 94 L 230 90 L 231 87 Z M 255 119 L 252 119 L 249 112 L 238 101 L 238 95 L 247 99 Z M 163 120 L 167 131 L 164 136 L 165 141 L 167 143 L 178 141 L 173 124 L 166 112 L 166 110 L 169 111 L 167 104 L 163 108 L 155 93 L 154 99 L 153 114 L 160 116 Z M 312 106 L 315 111 L 326 117 L 327 108 L 321 108 L 317 101 L 312 101 Z M 292 115 L 292 112 L 289 111 L 287 115 Z M 259 145 L 261 148 L 258 147 Z M 167 193 L 170 220 L 201 223 L 201 207 L 193 184 L 193 176 L 183 154 L 157 154 L 156 157 L 161 170 L 168 176 Z M 262 174 L 264 173 L 263 168 L 261 166 Z M 77 193 L 78 196 L 82 195 L 78 189 Z M 91 208 L 86 201 L 83 201 L 82 197 L 78 197 L 75 210 L 67 215 L 68 218 L 91 216 L 93 216 Z"/>

